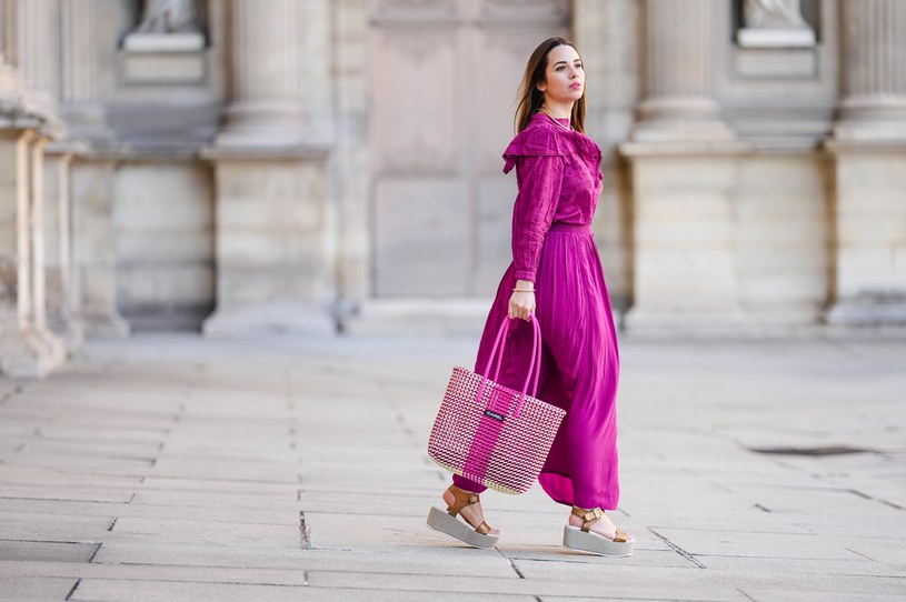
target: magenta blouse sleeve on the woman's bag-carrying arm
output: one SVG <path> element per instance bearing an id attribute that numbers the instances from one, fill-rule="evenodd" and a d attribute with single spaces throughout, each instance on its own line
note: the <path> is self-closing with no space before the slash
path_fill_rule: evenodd
<path id="1" fill-rule="evenodd" d="M 504 153 L 504 172 L 515 165 L 519 187 L 512 208 L 514 275 L 535 282 L 541 247 L 560 198 L 565 162 L 552 134 L 530 134 L 528 142 L 519 137 L 514 140 Z"/>

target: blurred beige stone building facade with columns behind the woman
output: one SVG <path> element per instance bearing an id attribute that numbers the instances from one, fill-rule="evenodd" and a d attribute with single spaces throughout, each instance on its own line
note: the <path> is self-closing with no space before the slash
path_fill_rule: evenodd
<path id="1" fill-rule="evenodd" d="M 0 370 L 133 330 L 480 327 L 555 34 L 626 331 L 906 322 L 898 0 L 0 0 Z"/>

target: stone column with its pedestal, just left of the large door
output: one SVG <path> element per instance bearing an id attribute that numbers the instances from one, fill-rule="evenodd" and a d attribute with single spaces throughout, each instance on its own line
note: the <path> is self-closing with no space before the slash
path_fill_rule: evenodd
<path id="1" fill-rule="evenodd" d="M 329 140 L 312 119 L 312 94 L 332 86 L 330 3 L 230 7 L 232 103 L 205 153 L 217 179 L 217 310 L 203 330 L 330 331 Z"/>

